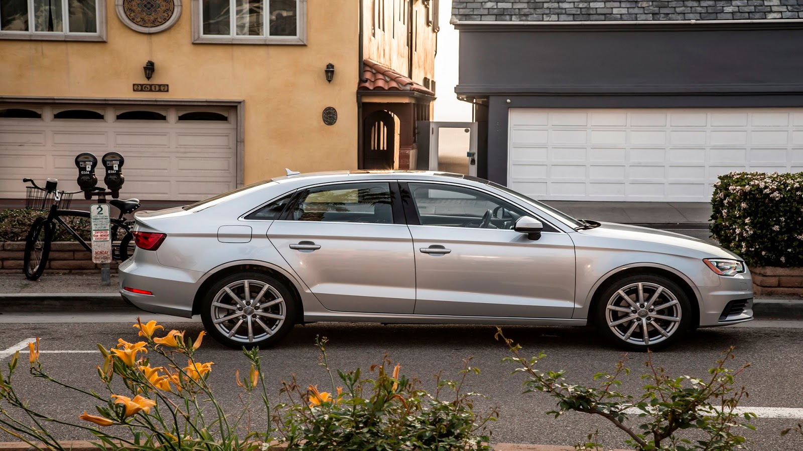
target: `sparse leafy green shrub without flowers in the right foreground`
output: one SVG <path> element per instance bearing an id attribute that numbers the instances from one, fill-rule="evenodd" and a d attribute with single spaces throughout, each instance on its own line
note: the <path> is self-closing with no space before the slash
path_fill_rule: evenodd
<path id="1" fill-rule="evenodd" d="M 670 376 L 663 368 L 654 366 L 652 354 L 648 352 L 646 367 L 649 372 L 642 376 L 646 385 L 641 395 L 634 396 L 618 391 L 622 376 L 630 374 L 626 357 L 616 364 L 613 374 L 601 372 L 594 375 L 594 380 L 600 381 L 598 387 L 586 387 L 566 382 L 565 371 L 542 372 L 536 369 L 536 364 L 546 355 L 540 352 L 529 358 L 522 356 L 521 346 L 505 338 L 499 328 L 496 339 L 503 340 L 513 354 L 503 361 L 519 366 L 513 374 L 523 373 L 527 376 L 525 393 L 544 392 L 556 398 L 557 409 L 548 414 L 558 417 L 565 412 L 575 411 L 602 416 L 626 433 L 626 443 L 633 449 L 745 449 L 745 438 L 736 432 L 740 428 L 754 429 L 749 421 L 755 418 L 755 414 L 736 412 L 740 400 L 747 397 L 748 392 L 744 387 L 733 386 L 734 377 L 748 368 L 749 364 L 736 370 L 725 366 L 735 357 L 733 347 L 716 360 L 716 366 L 708 370 L 709 376 L 705 379 Z M 641 424 L 632 425 L 633 417 L 637 417 Z M 695 429 L 705 437 L 696 441 L 680 437 L 683 429 Z M 596 437 L 589 437 L 589 443 L 577 445 L 577 449 L 601 449 L 601 445 Z"/>

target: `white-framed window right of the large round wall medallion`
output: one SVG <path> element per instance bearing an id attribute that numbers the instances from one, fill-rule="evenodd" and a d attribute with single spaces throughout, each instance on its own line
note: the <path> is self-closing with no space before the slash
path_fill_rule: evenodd
<path id="1" fill-rule="evenodd" d="M 193 6 L 194 43 L 307 43 L 307 0 L 193 0 Z"/>

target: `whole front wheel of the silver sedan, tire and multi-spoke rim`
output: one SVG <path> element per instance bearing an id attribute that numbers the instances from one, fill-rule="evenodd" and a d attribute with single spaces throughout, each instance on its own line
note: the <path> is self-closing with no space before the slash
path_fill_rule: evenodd
<path id="1" fill-rule="evenodd" d="M 654 298 L 656 293 L 658 297 Z M 593 315 L 605 338 L 630 351 L 662 349 L 693 328 L 686 292 L 669 278 L 654 274 L 608 283 L 597 299 Z"/>

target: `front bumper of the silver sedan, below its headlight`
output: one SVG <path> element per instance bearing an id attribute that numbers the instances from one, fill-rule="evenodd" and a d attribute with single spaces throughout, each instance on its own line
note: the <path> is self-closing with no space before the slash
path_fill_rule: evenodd
<path id="1" fill-rule="evenodd" d="M 719 276 L 719 286 L 699 286 L 703 303 L 700 327 L 727 326 L 753 319 L 753 291 L 750 271 Z"/>

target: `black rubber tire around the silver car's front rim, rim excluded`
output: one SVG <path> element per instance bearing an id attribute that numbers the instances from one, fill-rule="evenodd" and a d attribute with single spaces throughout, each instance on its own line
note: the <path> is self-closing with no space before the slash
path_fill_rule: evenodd
<path id="1" fill-rule="evenodd" d="M 671 291 L 680 303 L 681 319 L 678 330 L 675 331 L 675 333 L 672 334 L 668 339 L 665 339 L 660 343 L 650 344 L 650 346 L 639 346 L 634 343 L 622 341 L 622 339 L 620 339 L 616 334 L 613 333 L 613 331 L 610 330 L 608 327 L 608 321 L 605 319 L 605 310 L 608 306 L 608 300 L 613 296 L 613 294 L 622 288 L 622 286 L 627 286 L 637 282 L 656 283 L 660 286 L 663 286 L 667 290 Z M 691 304 L 689 303 L 686 291 L 684 291 L 683 288 L 681 288 L 671 279 L 655 274 L 632 275 L 625 278 L 619 278 L 614 282 L 607 283 L 605 288 L 600 292 L 599 299 L 597 299 L 597 303 L 593 309 L 593 315 L 597 330 L 599 333 L 601 333 L 601 335 L 605 336 L 605 339 L 607 339 L 609 343 L 628 351 L 642 352 L 646 352 L 647 349 L 650 351 L 657 351 L 659 349 L 669 347 L 681 339 L 684 335 L 687 335 L 688 331 L 692 328 L 691 319 L 693 316 L 691 314 Z"/>

